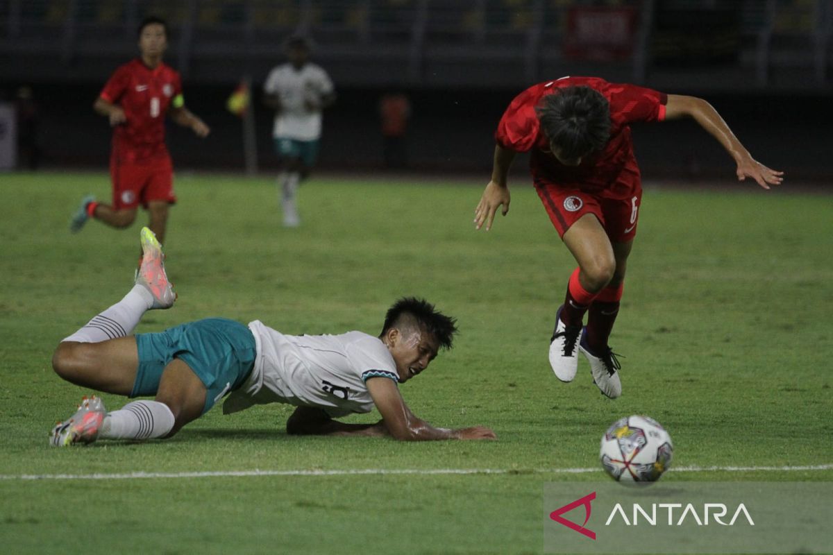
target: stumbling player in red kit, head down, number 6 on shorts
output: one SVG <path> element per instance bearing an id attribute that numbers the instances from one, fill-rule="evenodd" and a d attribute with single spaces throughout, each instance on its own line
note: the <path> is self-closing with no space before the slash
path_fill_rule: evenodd
<path id="1" fill-rule="evenodd" d="M 764 189 L 782 181 L 752 158 L 711 105 L 596 77 L 562 77 L 521 92 L 495 133 L 491 181 L 475 209 L 476 229 L 491 228 L 496 211 L 509 211 L 506 183 L 516 152 L 531 153 L 532 181 L 558 235 L 578 267 L 556 312 L 550 364 L 558 379 L 576 376 L 578 351 L 590 362 L 603 394 L 621 394 L 619 362 L 607 340 L 622 295 L 627 257 L 636 235 L 642 187 L 630 124 L 690 116 L 736 161 L 739 181 Z M 583 327 L 585 313 L 587 325 Z"/>

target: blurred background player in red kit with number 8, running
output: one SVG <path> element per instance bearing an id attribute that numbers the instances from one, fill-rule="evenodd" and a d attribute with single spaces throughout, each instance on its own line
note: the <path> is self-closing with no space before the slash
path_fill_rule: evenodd
<path id="1" fill-rule="evenodd" d="M 141 204 L 150 215 L 148 227 L 160 242 L 165 240 L 168 205 L 177 201 L 171 156 L 165 146 L 165 114 L 197 136 L 210 132 L 185 107 L 179 73 L 162 62 L 166 48 L 166 22 L 147 17 L 139 26 L 141 56 L 119 67 L 93 104 L 113 127 L 112 205 L 96 202 L 92 196 L 85 198 L 72 218 L 73 233 L 91 217 L 112 227 L 127 227 Z"/>

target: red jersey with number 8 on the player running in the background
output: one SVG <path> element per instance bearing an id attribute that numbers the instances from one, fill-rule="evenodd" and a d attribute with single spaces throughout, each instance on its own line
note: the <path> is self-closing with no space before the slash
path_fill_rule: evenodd
<path id="1" fill-rule="evenodd" d="M 182 106 L 181 95 L 179 72 L 162 62 L 151 69 L 136 58 L 119 67 L 99 95 L 127 117 L 113 129 L 113 158 L 131 162 L 167 156 L 165 114 L 174 99 Z"/>

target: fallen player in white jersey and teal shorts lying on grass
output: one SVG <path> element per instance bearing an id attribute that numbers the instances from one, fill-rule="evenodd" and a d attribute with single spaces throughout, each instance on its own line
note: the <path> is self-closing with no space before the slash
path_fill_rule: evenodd
<path id="1" fill-rule="evenodd" d="M 212 318 L 151 334 L 132 334 L 147 310 L 167 309 L 176 295 L 162 248 L 142 229 L 142 266 L 117 304 L 63 339 L 52 367 L 83 387 L 127 397 L 155 396 L 107 412 L 93 396 L 50 434 L 57 447 L 98 439 L 156 439 L 176 434 L 224 396 L 223 413 L 254 404 L 297 407 L 288 434 L 390 436 L 399 440 L 495 439 L 491 429 L 435 428 L 414 416 L 399 384 L 420 374 L 440 349 L 451 349 L 456 321 L 425 300 L 398 300 L 378 336 L 287 335 L 259 320 L 248 326 Z M 333 418 L 378 409 L 376 424 Z"/>

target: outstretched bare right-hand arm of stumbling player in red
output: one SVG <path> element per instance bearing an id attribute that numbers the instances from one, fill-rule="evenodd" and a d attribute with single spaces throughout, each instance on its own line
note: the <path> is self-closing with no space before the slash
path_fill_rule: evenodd
<path id="1" fill-rule="evenodd" d="M 666 120 L 691 116 L 703 129 L 709 131 L 737 163 L 737 179 L 744 181 L 747 177 L 754 179 L 764 189 L 771 185 L 780 185 L 784 180 L 783 171 L 775 171 L 752 158 L 752 155 L 738 141 L 726 121 L 711 104 L 697 97 L 682 95 L 668 95 L 666 104 Z"/>

